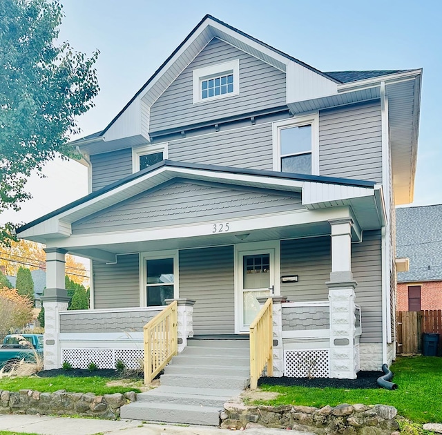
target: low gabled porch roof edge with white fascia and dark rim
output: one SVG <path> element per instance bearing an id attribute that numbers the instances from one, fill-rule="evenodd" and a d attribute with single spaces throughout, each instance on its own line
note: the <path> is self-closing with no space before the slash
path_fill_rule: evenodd
<path id="1" fill-rule="evenodd" d="M 70 238 L 73 222 L 176 179 L 221 183 L 233 189 L 244 186 L 274 193 L 302 192 L 305 209 L 347 206 L 362 230 L 378 228 L 384 222 L 382 193 L 374 182 L 164 160 L 19 227 L 17 234 L 46 244 L 50 240 Z"/>

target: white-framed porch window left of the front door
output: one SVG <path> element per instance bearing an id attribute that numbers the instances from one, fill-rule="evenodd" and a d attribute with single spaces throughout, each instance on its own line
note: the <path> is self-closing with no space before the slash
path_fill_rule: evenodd
<path id="1" fill-rule="evenodd" d="M 177 287 L 177 253 L 164 251 L 142 255 L 142 300 L 148 307 L 166 305 L 175 298 Z"/>

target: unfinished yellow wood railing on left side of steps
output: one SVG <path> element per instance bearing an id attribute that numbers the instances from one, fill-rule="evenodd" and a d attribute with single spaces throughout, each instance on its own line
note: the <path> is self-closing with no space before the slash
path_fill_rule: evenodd
<path id="1" fill-rule="evenodd" d="M 144 383 L 150 384 L 178 353 L 177 301 L 144 326 Z"/>

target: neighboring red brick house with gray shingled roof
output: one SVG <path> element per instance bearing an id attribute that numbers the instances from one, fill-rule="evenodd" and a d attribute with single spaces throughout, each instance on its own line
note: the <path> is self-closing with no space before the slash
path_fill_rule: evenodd
<path id="1" fill-rule="evenodd" d="M 442 309 L 442 204 L 396 210 L 397 311 Z"/>

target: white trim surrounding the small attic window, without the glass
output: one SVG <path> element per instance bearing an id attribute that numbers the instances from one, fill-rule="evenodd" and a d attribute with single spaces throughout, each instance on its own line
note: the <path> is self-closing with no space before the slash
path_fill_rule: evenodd
<path id="1" fill-rule="evenodd" d="M 201 81 L 224 74 L 233 74 L 233 92 L 202 99 Z M 240 95 L 240 59 L 193 70 L 193 104 L 209 103 L 235 95 Z"/>

